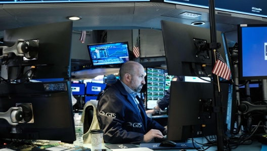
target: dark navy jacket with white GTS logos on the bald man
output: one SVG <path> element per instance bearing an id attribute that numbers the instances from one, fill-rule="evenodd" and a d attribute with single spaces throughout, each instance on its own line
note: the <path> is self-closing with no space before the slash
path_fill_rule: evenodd
<path id="1" fill-rule="evenodd" d="M 151 129 L 165 130 L 148 118 L 141 99 L 135 100 L 126 92 L 120 81 L 110 86 L 98 102 L 97 116 L 103 138 L 108 143 L 140 143 Z"/>

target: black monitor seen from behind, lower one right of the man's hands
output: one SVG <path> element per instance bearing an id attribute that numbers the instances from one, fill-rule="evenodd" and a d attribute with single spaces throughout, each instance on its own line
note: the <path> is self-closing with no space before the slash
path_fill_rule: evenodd
<path id="1" fill-rule="evenodd" d="M 227 92 L 228 84 L 220 84 L 220 88 L 222 92 Z M 222 93 L 222 106 L 227 105 L 227 98 L 228 94 Z M 202 137 L 203 133 L 207 136 L 215 135 L 215 114 L 206 109 L 210 105 L 214 106 L 213 84 L 172 81 L 167 139 L 185 141 L 192 136 Z M 226 112 L 222 112 L 221 120 L 226 121 Z M 201 125 L 206 125 L 204 131 Z M 191 126 L 194 126 L 193 135 Z"/>

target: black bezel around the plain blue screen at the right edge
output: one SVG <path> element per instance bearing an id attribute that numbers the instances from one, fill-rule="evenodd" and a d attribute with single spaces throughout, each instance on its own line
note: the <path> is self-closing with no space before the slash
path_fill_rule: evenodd
<path id="1" fill-rule="evenodd" d="M 265 76 L 243 76 L 243 48 L 242 48 L 242 29 L 246 27 L 266 27 L 267 24 L 239 24 L 237 26 L 237 34 L 238 34 L 238 63 L 239 63 L 239 80 L 262 80 L 267 79 L 267 75 Z"/>

